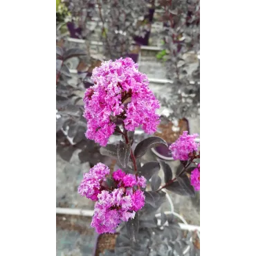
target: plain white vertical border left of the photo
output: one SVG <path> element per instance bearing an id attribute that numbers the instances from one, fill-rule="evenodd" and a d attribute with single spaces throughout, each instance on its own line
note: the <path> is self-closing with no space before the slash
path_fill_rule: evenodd
<path id="1" fill-rule="evenodd" d="M 1 2 L 1 255 L 55 255 L 55 3 Z"/>

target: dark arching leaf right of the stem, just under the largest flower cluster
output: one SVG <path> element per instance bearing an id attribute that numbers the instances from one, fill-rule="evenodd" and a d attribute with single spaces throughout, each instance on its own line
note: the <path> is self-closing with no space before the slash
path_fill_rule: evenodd
<path id="1" fill-rule="evenodd" d="M 145 140 L 140 141 L 140 143 L 138 143 L 136 146 L 134 150 L 134 156 L 136 158 L 144 156 L 144 154 L 147 152 L 147 149 L 157 147 L 159 145 L 165 145 L 168 147 L 166 141 L 163 140 L 163 138 L 156 136 L 145 138 Z"/>

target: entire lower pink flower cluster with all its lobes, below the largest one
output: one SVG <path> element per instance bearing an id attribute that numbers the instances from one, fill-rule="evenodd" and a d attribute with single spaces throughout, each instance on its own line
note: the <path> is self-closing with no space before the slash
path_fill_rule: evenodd
<path id="1" fill-rule="evenodd" d="M 125 174 L 122 170 L 113 172 L 113 180 L 117 188 L 113 191 L 105 190 L 102 181 L 106 181 L 109 167 L 102 163 L 95 165 L 89 173 L 84 174 L 78 193 L 97 201 L 95 203 L 91 226 L 98 233 L 113 233 L 121 221 L 134 218 L 136 211 L 145 205 L 145 195 L 140 189 L 134 190 L 138 185 L 145 188 L 147 180 L 143 176 Z M 110 190 L 110 189 L 109 189 Z"/>

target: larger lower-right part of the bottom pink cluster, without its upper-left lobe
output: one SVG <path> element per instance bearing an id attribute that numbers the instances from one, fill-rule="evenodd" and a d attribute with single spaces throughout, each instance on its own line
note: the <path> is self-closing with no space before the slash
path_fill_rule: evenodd
<path id="1" fill-rule="evenodd" d="M 126 192 L 122 188 L 116 188 L 111 193 L 103 190 L 98 195 L 99 201 L 95 203 L 91 226 L 98 233 L 116 232 L 117 226 L 122 221 L 133 219 L 136 211 L 143 208 L 145 195 L 143 191 L 131 188 Z"/>

